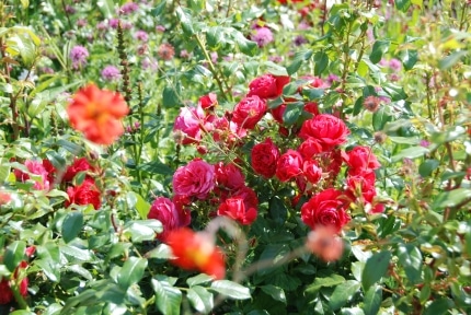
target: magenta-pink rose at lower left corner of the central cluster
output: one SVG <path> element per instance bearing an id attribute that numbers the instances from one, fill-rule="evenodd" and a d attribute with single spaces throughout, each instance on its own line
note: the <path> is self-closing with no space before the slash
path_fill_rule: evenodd
<path id="1" fill-rule="evenodd" d="M 160 241 L 164 241 L 170 231 L 186 226 L 191 221 L 189 211 L 175 207 L 172 200 L 165 197 L 156 198 L 147 218 L 159 220 L 162 223 L 163 231 L 157 236 Z"/>

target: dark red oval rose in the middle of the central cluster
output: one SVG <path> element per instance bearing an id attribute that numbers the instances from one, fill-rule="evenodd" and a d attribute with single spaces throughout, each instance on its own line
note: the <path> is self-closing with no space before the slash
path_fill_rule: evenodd
<path id="1" fill-rule="evenodd" d="M 251 163 L 256 174 L 271 178 L 276 173 L 276 163 L 279 159 L 279 150 L 271 138 L 252 148 Z"/>

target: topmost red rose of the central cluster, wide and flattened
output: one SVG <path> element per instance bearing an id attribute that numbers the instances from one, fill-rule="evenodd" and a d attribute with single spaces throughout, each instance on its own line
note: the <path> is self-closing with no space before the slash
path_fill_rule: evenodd
<path id="1" fill-rule="evenodd" d="M 260 98 L 278 97 L 283 93 L 283 88 L 288 84 L 288 82 L 289 77 L 264 74 L 250 82 L 248 96 L 256 95 Z"/>

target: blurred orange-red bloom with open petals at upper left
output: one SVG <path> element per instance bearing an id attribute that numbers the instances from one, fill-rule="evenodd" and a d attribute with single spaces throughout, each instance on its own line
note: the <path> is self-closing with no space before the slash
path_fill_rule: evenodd
<path id="1" fill-rule="evenodd" d="M 100 90 L 94 84 L 80 89 L 67 107 L 70 125 L 97 144 L 111 144 L 123 135 L 119 119 L 128 113 L 119 93 Z"/>

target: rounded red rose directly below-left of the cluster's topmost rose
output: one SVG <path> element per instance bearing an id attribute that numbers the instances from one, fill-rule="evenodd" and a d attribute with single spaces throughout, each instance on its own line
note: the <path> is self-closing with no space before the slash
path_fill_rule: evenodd
<path id="1" fill-rule="evenodd" d="M 232 121 L 241 128 L 253 129 L 266 113 L 266 103 L 256 95 L 240 101 L 232 113 Z"/>

